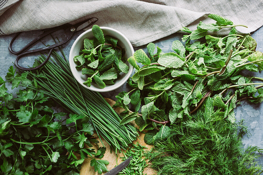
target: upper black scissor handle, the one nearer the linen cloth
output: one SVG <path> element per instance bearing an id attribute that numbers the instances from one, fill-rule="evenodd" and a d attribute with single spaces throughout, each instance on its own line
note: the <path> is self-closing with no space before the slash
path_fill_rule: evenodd
<path id="1" fill-rule="evenodd" d="M 55 31 L 57 31 L 57 30 L 64 29 L 65 25 L 66 25 L 66 24 L 64 24 L 64 25 L 62 25 L 62 26 L 54 27 L 54 28 L 52 28 L 52 29 L 49 29 L 48 31 L 46 31 L 46 32 L 42 33 L 41 35 L 39 35 L 37 38 L 33 39 L 30 43 L 28 43 L 28 44 L 27 44 L 25 47 L 23 47 L 21 50 L 15 52 L 15 51 L 12 50 L 12 45 L 13 45 L 14 40 L 15 40 L 15 39 L 17 38 L 17 36 L 21 33 L 21 32 L 18 32 L 18 33 L 16 33 L 16 34 L 13 36 L 13 38 L 11 39 L 11 41 L 10 41 L 10 43 L 9 43 L 8 49 L 9 49 L 9 51 L 10 51 L 12 54 L 15 54 L 15 55 L 21 54 L 21 53 L 23 53 L 25 50 L 27 50 L 29 47 L 31 47 L 33 44 L 35 44 L 35 43 L 36 43 L 38 40 L 40 40 L 41 38 L 49 35 L 49 34 L 52 33 L 52 32 L 55 32 Z M 67 24 L 67 25 L 68 25 L 68 24 Z M 71 36 L 72 36 L 72 35 L 73 35 L 73 32 L 72 32 Z M 71 37 L 71 36 L 70 36 L 70 37 Z M 35 49 L 35 50 L 37 50 L 37 49 Z"/>

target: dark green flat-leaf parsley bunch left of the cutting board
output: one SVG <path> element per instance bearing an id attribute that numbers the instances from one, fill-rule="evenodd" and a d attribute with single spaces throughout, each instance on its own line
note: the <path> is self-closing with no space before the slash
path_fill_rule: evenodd
<path id="1" fill-rule="evenodd" d="M 7 79 L 14 73 L 11 66 Z M 29 83 L 26 74 L 21 74 L 23 83 Z M 84 158 L 101 162 L 91 163 L 95 169 L 106 168 L 108 161 L 94 159 L 102 158 L 106 148 L 94 151 L 92 143 L 98 141 L 92 136 L 89 117 L 69 114 L 63 124 L 66 113 L 54 113 L 53 102 L 43 92 L 26 88 L 16 95 L 9 94 L 5 84 L 0 87 L 0 174 L 79 174 Z"/>

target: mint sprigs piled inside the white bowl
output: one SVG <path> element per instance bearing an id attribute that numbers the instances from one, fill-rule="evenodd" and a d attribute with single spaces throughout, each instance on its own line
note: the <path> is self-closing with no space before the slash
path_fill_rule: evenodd
<path id="1" fill-rule="evenodd" d="M 93 81 L 100 88 L 106 85 L 114 85 L 114 81 L 120 77 L 120 72 L 128 73 L 129 67 L 125 64 L 125 50 L 117 46 L 118 39 L 103 35 L 98 25 L 93 25 L 94 39 L 84 39 L 84 49 L 80 55 L 74 57 L 79 63 L 77 69 L 82 68 L 82 74 L 88 75 L 84 85 L 90 87 Z"/>

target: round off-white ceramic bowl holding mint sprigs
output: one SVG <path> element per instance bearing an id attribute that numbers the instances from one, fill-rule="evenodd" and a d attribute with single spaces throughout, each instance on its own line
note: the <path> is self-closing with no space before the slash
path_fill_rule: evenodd
<path id="1" fill-rule="evenodd" d="M 128 38 L 126 38 L 122 33 L 120 33 L 118 30 L 115 30 L 115 29 L 109 28 L 109 27 L 100 27 L 100 28 L 102 29 L 104 35 L 109 35 L 111 37 L 118 39 L 117 44 L 120 47 L 125 49 L 125 55 L 124 56 L 126 56 L 127 58 L 130 58 L 130 56 L 133 55 L 134 50 L 133 50 L 131 43 L 128 40 Z M 85 38 L 89 38 L 89 39 L 94 38 L 93 33 L 92 33 L 92 29 L 89 29 L 89 30 L 83 32 L 81 35 L 79 35 L 79 37 L 73 43 L 73 45 L 70 49 L 70 53 L 69 53 L 69 65 L 70 65 L 71 72 L 72 72 L 73 76 L 75 77 L 75 79 L 85 88 L 92 90 L 92 91 L 96 91 L 96 92 L 108 92 L 108 91 L 115 90 L 115 89 L 119 88 L 120 86 L 122 86 L 129 79 L 129 77 L 131 76 L 131 73 L 133 72 L 133 66 L 128 61 L 126 61 L 126 64 L 129 66 L 129 72 L 127 74 L 121 72 L 120 77 L 115 81 L 114 85 L 106 85 L 106 87 L 102 89 L 97 84 L 95 84 L 93 82 L 91 83 L 90 87 L 83 84 L 87 80 L 88 76 L 82 75 L 81 69 L 77 70 L 75 68 L 75 66 L 77 66 L 77 64 L 74 61 L 74 56 L 79 55 L 80 49 L 84 49 L 83 43 L 84 43 Z"/>

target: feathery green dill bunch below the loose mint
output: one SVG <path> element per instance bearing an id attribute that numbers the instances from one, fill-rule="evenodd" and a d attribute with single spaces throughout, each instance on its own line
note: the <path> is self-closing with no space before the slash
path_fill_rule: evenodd
<path id="1" fill-rule="evenodd" d="M 256 159 L 263 150 L 256 146 L 244 149 L 237 131 L 244 132 L 246 127 L 219 114 L 207 116 L 199 111 L 192 120 L 172 125 L 167 140 L 155 142 L 154 150 L 145 153 L 158 175 L 261 174 Z"/>

